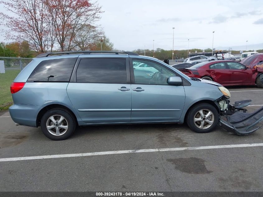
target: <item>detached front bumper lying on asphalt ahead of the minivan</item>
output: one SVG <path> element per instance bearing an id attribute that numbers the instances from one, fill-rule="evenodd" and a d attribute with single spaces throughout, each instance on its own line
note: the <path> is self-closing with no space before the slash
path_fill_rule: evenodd
<path id="1" fill-rule="evenodd" d="M 252 113 L 246 113 L 242 107 L 248 106 L 251 100 L 237 101 L 234 105 L 228 104 L 228 110 L 220 116 L 219 124 L 227 131 L 237 135 L 248 135 L 259 129 L 263 120 L 263 107 Z"/>

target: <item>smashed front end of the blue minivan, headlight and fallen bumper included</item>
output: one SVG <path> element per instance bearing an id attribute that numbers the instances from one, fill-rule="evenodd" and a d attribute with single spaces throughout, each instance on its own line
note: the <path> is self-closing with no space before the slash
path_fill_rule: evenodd
<path id="1" fill-rule="evenodd" d="M 263 107 L 252 113 L 247 113 L 247 109 L 244 107 L 250 105 L 251 100 L 236 101 L 231 105 L 230 92 L 222 86 L 218 89 L 224 94 L 214 101 L 220 111 L 220 126 L 237 135 L 251 134 L 262 126 L 262 123 L 259 123 L 263 120 Z"/>

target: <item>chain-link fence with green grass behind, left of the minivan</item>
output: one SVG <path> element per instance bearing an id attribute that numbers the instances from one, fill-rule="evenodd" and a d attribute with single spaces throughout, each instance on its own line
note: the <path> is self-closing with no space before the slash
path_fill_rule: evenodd
<path id="1" fill-rule="evenodd" d="M 0 57 L 0 109 L 12 104 L 10 85 L 31 61 L 29 58 Z"/>

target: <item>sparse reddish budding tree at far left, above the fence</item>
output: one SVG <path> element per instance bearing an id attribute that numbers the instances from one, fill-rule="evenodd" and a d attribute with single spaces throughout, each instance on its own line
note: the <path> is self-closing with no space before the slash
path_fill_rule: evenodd
<path id="1" fill-rule="evenodd" d="M 9 28 L 6 38 L 9 40 L 26 40 L 30 48 L 44 53 L 50 48 L 49 29 L 45 23 L 47 14 L 43 0 L 0 0 L 8 14 L 0 17 Z"/>

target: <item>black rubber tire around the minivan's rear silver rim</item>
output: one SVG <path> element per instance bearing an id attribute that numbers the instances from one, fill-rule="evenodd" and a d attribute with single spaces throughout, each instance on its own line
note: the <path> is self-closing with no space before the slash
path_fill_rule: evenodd
<path id="1" fill-rule="evenodd" d="M 67 123 L 68 128 L 64 134 L 54 135 L 54 134 L 51 134 L 49 132 L 49 130 L 47 129 L 47 126 L 46 126 L 47 121 L 48 121 L 49 117 L 51 117 L 52 115 L 61 115 L 67 121 L 66 123 Z M 69 112 L 68 110 L 65 110 L 65 109 L 59 109 L 58 108 L 58 109 L 49 110 L 42 116 L 41 122 L 40 122 L 40 127 L 41 127 L 43 134 L 46 137 L 48 137 L 49 139 L 64 140 L 64 139 L 68 138 L 69 136 L 71 136 L 73 134 L 73 132 L 75 131 L 76 121 L 75 121 L 71 112 Z"/>

